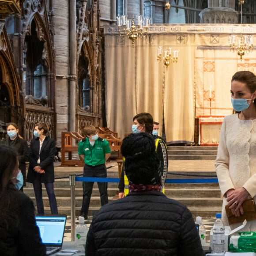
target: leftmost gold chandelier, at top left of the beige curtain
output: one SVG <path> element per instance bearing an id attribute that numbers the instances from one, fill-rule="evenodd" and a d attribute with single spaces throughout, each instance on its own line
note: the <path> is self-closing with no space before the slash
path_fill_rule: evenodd
<path id="1" fill-rule="evenodd" d="M 118 32 L 121 37 L 128 36 L 132 41 L 132 47 L 134 47 L 137 38 L 147 36 L 147 31 L 150 26 L 151 18 L 144 18 L 142 15 L 134 18 L 127 19 L 126 15 L 117 17 Z"/>

